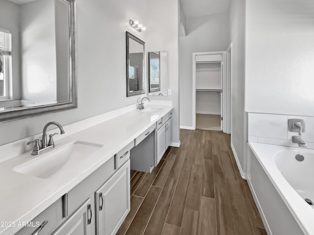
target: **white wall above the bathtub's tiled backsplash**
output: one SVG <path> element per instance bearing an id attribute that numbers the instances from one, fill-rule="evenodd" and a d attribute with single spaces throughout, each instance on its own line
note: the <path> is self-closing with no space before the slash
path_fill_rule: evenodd
<path id="1" fill-rule="evenodd" d="M 246 111 L 314 115 L 313 0 L 249 0 Z"/>

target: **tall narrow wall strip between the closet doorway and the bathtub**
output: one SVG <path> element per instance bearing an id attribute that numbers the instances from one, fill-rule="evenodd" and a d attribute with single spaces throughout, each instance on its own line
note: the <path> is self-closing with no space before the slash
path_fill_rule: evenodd
<path id="1" fill-rule="evenodd" d="M 246 116 L 245 102 L 245 0 L 231 1 L 230 31 L 232 47 L 232 128 L 231 143 L 235 155 L 246 171 Z"/>

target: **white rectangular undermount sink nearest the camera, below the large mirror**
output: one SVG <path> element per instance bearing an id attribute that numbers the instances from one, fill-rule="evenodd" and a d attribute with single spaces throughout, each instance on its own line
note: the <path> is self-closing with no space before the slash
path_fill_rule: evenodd
<path id="1" fill-rule="evenodd" d="M 101 144 L 75 141 L 40 154 L 32 160 L 14 167 L 13 171 L 47 179 L 58 172 L 71 159 L 80 161 L 101 147 L 103 147 Z"/>

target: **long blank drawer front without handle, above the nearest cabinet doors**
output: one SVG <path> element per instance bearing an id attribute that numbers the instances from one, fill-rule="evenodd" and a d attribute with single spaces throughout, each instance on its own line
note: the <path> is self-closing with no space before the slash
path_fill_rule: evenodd
<path id="1" fill-rule="evenodd" d="M 75 211 L 85 201 L 92 191 L 102 185 L 115 171 L 114 157 L 100 166 L 85 180 L 68 193 L 68 215 Z"/>

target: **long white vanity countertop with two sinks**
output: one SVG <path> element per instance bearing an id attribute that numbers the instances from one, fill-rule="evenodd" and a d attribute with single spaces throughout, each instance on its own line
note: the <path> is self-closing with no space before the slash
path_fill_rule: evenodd
<path id="1" fill-rule="evenodd" d="M 145 109 L 148 107 L 152 106 L 147 105 Z M 71 165 L 71 168 L 63 167 L 47 179 L 12 170 L 15 166 L 41 155 L 31 156 L 31 152 L 26 152 L 0 163 L 0 222 L 17 224 L 31 221 L 173 109 L 172 106 L 154 107 L 162 109 L 150 112 L 133 110 L 55 141 L 54 149 L 73 141 L 86 141 L 104 146 L 88 158 Z M 22 228 L 0 226 L 0 235 L 12 235 L 20 229 Z"/>

